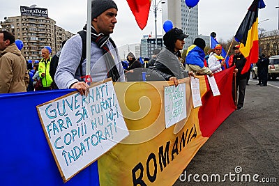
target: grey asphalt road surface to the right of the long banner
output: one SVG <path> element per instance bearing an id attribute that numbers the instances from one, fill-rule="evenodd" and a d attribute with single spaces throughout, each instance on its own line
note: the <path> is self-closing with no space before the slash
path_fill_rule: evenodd
<path id="1" fill-rule="evenodd" d="M 218 127 L 186 167 L 187 177 L 197 174 L 200 182 L 193 176 L 190 182 L 185 180 L 183 171 L 185 181 L 174 185 L 279 185 L 279 87 L 271 86 L 272 81 L 266 87 L 257 86 L 257 79 L 249 84 L 243 109 Z M 203 181 L 213 174 L 220 175 L 220 180 L 228 176 L 223 183 L 216 182 L 215 176 L 212 182 Z M 249 176 L 250 183 L 246 182 Z"/>

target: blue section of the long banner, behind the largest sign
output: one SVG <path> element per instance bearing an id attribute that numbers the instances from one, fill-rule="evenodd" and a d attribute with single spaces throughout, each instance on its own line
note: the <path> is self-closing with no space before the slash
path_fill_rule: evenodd
<path id="1" fill-rule="evenodd" d="M 63 183 L 36 106 L 73 92 L 73 89 L 0 94 L 1 185 L 99 185 L 94 162 Z"/>

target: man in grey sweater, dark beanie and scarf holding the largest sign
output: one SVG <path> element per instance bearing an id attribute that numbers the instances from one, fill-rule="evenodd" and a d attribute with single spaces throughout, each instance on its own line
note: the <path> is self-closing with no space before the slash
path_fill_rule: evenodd
<path id="1" fill-rule="evenodd" d="M 117 22 L 117 6 L 112 0 L 93 0 L 91 4 L 91 78 L 102 82 L 112 78 L 114 82 L 125 82 L 121 59 L 110 38 Z M 82 33 L 86 36 L 86 25 Z M 82 59 L 82 37 L 77 34 L 64 45 L 55 73 L 58 88 L 76 88 L 84 95 L 89 87 L 85 82 L 86 59 Z M 82 59 L 82 61 L 81 61 Z"/>

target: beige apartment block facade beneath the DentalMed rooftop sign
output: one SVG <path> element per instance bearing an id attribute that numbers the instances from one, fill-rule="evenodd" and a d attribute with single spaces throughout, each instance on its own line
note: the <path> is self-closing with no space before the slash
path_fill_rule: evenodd
<path id="1" fill-rule="evenodd" d="M 46 10 L 46 9 L 45 9 Z M 41 59 L 40 50 L 45 46 L 52 47 L 52 55 L 61 49 L 63 40 L 68 40 L 73 33 L 65 31 L 49 17 L 20 15 L 5 17 L 1 29 L 10 31 L 15 39 L 22 40 L 22 55 L 25 59 Z"/>

